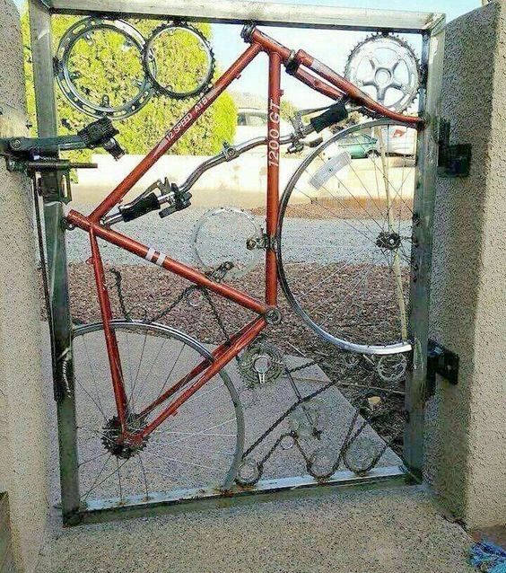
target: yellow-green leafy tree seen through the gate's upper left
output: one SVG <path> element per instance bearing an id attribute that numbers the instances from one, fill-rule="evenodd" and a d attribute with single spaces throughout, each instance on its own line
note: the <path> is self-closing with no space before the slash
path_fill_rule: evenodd
<path id="1" fill-rule="evenodd" d="M 53 17 L 53 41 L 56 52 L 59 40 L 65 31 L 76 22 L 74 16 Z M 158 22 L 152 20 L 129 21 L 147 38 Z M 209 24 L 198 24 L 198 28 L 207 38 L 211 36 Z M 98 34 L 98 32 L 95 32 Z M 33 91 L 33 70 L 31 66 L 30 23 L 28 10 L 22 13 L 22 35 L 24 43 L 25 75 L 27 84 L 27 101 L 31 121 L 36 130 L 35 95 Z M 135 78 L 141 75 L 138 51 L 130 49 L 119 34 L 104 32 L 103 37 L 95 38 L 86 46 L 83 40 L 74 49 L 71 65 L 78 70 L 80 85 L 87 86 L 91 96 L 107 94 L 114 104 L 120 97 L 120 92 L 134 93 L 137 89 Z M 198 57 L 195 48 L 180 46 L 184 58 L 178 58 L 178 64 L 173 60 L 174 85 L 185 81 L 188 77 L 188 68 L 191 68 L 192 58 Z M 130 118 L 115 122 L 120 135 L 118 140 L 129 154 L 146 154 L 155 145 L 164 133 L 189 109 L 193 101 L 178 101 L 164 96 L 153 96 L 142 110 Z M 57 89 L 57 109 L 60 125 L 60 135 L 75 133 L 84 125 L 90 123 L 92 118 L 80 110 L 76 110 L 65 98 L 61 90 Z M 237 110 L 231 96 L 223 93 L 213 106 L 196 121 L 196 124 L 179 139 L 170 149 L 171 154 L 215 154 L 223 141 L 233 141 L 237 125 Z M 100 153 L 100 150 L 97 150 Z M 73 160 L 89 160 L 92 152 L 72 152 L 69 154 Z M 105 152 L 103 152 L 105 153 Z"/>

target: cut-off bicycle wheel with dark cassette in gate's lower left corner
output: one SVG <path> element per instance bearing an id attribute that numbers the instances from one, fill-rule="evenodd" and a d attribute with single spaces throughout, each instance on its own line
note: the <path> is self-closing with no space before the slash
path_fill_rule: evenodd
<path id="1" fill-rule="evenodd" d="M 112 327 L 132 427 L 153 420 L 163 406 L 144 418 L 139 413 L 203 358 L 212 360 L 195 339 L 161 324 L 115 321 Z M 74 331 L 74 378 L 83 504 L 98 498 L 149 499 L 174 489 L 230 488 L 242 455 L 244 419 L 224 369 L 135 451 L 118 448 L 112 439 L 118 418 L 101 323 Z"/>

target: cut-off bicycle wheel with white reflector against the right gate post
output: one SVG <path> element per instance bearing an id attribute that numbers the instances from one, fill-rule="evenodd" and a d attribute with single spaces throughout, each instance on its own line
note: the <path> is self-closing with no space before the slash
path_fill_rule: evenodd
<path id="1" fill-rule="evenodd" d="M 278 271 L 292 308 L 339 348 L 411 349 L 415 131 L 388 119 L 319 145 L 281 199 Z"/>

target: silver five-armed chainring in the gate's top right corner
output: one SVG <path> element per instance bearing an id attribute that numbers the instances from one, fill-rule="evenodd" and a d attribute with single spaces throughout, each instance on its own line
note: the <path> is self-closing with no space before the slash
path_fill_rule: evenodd
<path id="1" fill-rule="evenodd" d="M 420 88 L 420 64 L 404 40 L 375 35 L 353 48 L 345 77 L 389 110 L 401 112 L 413 103 Z"/>

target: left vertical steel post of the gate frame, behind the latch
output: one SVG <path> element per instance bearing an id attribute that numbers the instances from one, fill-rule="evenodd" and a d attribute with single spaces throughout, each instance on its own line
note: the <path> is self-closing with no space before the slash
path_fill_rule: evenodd
<path id="1" fill-rule="evenodd" d="M 39 0 L 30 0 L 31 51 L 39 137 L 57 135 L 57 106 L 53 82 L 51 16 Z M 72 321 L 63 222 L 62 174 L 47 172 L 39 181 L 44 193 L 44 223 L 48 255 L 48 286 L 52 316 L 54 384 L 57 398 L 60 482 L 64 522 L 73 522 L 79 509 L 79 474 L 75 425 Z"/>

